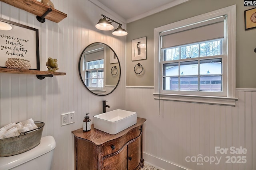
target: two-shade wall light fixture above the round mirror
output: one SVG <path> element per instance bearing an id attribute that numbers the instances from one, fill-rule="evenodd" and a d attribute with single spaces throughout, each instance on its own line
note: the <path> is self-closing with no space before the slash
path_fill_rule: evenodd
<path id="1" fill-rule="evenodd" d="M 114 29 L 114 26 L 111 24 L 112 22 L 115 22 L 117 23 L 119 26 L 118 28 L 114 29 L 114 31 L 112 32 L 113 35 L 116 35 L 116 36 L 124 36 L 124 35 L 127 35 L 127 32 L 125 29 L 123 29 L 121 26 L 122 24 L 121 23 L 118 23 L 104 15 L 101 15 L 103 16 L 103 18 L 100 19 L 100 21 L 98 21 L 98 23 L 95 25 L 95 27 L 97 29 L 100 29 L 100 30 L 103 30 L 103 31 L 110 31 L 112 29 Z M 108 20 L 106 20 L 106 18 Z"/>

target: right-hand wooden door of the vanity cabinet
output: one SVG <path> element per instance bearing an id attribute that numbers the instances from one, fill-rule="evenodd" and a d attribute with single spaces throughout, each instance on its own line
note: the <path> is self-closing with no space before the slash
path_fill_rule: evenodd
<path id="1" fill-rule="evenodd" d="M 128 170 L 140 170 L 142 161 L 142 134 L 128 145 Z"/>

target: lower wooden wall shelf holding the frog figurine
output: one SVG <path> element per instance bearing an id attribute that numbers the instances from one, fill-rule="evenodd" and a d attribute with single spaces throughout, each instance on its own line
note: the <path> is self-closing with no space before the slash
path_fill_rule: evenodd
<path id="1" fill-rule="evenodd" d="M 53 76 L 64 76 L 65 72 L 50 72 L 50 71 L 39 71 L 39 70 L 19 70 L 19 69 L 10 69 L 10 68 L 0 68 L 0 73 L 13 73 L 13 74 L 34 74 L 40 80 L 45 77 Z"/>

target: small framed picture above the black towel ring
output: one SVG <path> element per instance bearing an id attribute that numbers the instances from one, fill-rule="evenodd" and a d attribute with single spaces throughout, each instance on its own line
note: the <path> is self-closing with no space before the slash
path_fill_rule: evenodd
<path id="1" fill-rule="evenodd" d="M 132 40 L 132 61 L 147 59 L 146 37 Z"/>

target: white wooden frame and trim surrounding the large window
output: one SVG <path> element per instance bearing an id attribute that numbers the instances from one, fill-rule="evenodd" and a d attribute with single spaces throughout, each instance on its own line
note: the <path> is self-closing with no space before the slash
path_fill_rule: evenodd
<path id="1" fill-rule="evenodd" d="M 227 20 L 227 64 L 223 67 L 227 67 L 226 75 L 226 93 L 222 96 L 213 96 L 212 93 L 204 93 L 204 96 L 192 95 L 189 92 L 187 94 L 182 93 L 162 93 L 161 92 L 161 69 L 160 64 L 161 48 L 160 48 L 160 33 L 171 29 L 177 29 L 186 25 L 198 23 L 201 21 L 216 18 L 218 16 L 228 17 Z M 225 106 L 235 106 L 236 98 L 236 5 L 232 5 L 226 8 L 208 12 L 199 16 L 188 18 L 185 20 L 170 23 L 154 29 L 154 48 L 155 48 L 155 70 L 154 70 L 154 99 L 156 100 L 171 100 L 180 102 L 193 102 L 193 103 L 204 103 L 204 104 L 218 104 Z M 223 73 L 224 74 L 224 73 Z"/>

